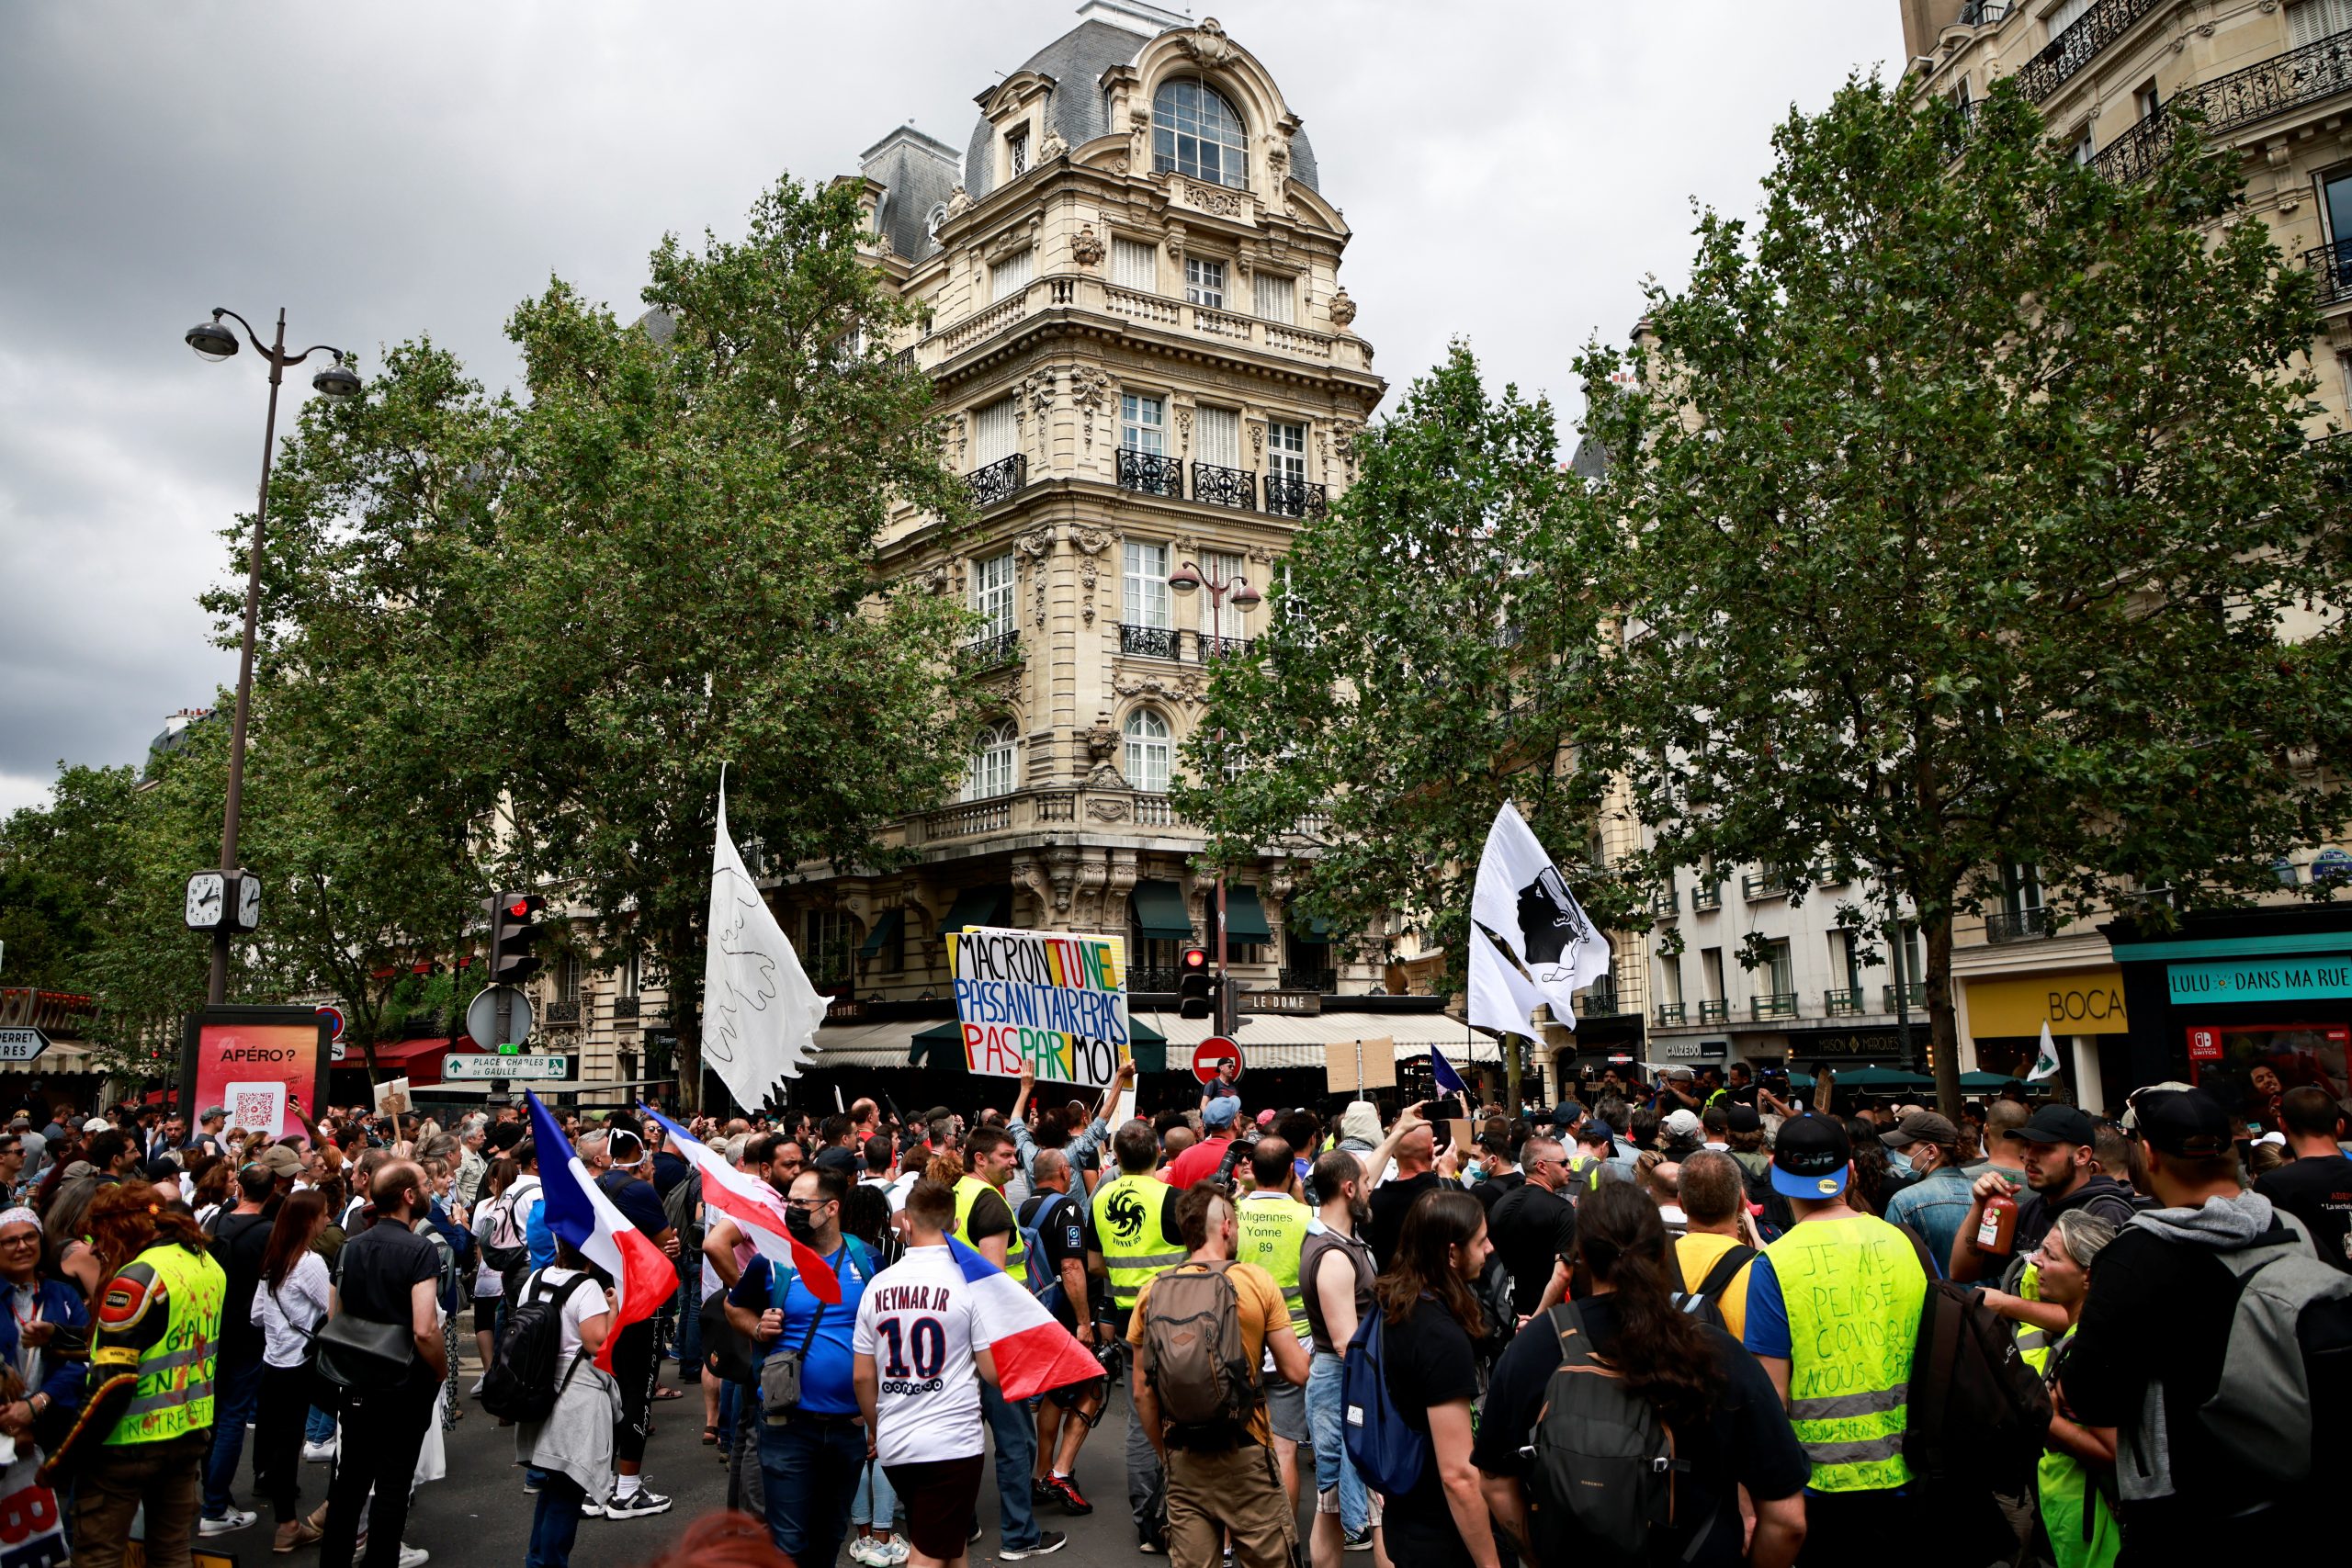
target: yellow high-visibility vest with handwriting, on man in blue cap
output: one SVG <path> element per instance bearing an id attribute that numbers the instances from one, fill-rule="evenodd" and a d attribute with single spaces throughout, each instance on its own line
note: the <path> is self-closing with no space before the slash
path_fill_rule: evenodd
<path id="1" fill-rule="evenodd" d="M 1867 1493 L 1912 1479 L 1903 1462 L 1912 1347 L 1926 1272 L 1886 1220 L 1806 1220 L 1764 1248 L 1788 1307 L 1788 1420 L 1813 1488 Z"/>

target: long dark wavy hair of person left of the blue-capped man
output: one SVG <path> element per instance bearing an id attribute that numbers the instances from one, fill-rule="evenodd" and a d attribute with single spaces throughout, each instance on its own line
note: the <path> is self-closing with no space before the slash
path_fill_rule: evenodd
<path id="1" fill-rule="evenodd" d="M 1668 1425 L 1705 1420 L 1724 1394 L 1724 1368 L 1705 1328 L 1668 1293 L 1658 1206 L 1632 1182 L 1602 1182 L 1576 1206 L 1576 1258 L 1613 1291 L 1618 1338 L 1609 1366 L 1625 1387 L 1658 1406 Z"/>

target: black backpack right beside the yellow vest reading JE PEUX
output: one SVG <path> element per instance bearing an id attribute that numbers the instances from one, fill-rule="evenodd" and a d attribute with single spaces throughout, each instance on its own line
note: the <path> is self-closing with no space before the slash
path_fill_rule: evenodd
<path id="1" fill-rule="evenodd" d="M 2032 1495 L 2051 1425 L 2049 1387 L 2018 1354 L 2009 1319 L 1971 1286 L 1938 1279 L 1919 1237 L 1907 1229 L 1903 1237 L 1926 1269 L 1903 1460 L 1924 1486 L 1955 1497 Z"/>

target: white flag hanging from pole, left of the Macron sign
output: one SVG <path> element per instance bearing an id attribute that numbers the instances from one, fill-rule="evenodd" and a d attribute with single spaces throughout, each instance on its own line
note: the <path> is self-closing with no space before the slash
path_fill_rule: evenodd
<path id="1" fill-rule="evenodd" d="M 797 1079 L 826 999 L 809 985 L 776 912 L 727 837 L 727 771 L 720 769 L 720 837 L 710 849 L 710 961 L 703 969 L 703 1063 L 739 1105 L 757 1110 L 779 1079 Z"/>

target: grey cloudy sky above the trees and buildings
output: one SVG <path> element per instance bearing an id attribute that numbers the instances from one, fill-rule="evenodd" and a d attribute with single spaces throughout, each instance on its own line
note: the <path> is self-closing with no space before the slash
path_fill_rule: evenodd
<path id="1" fill-rule="evenodd" d="M 181 346 L 207 308 L 367 360 L 433 334 L 503 386 L 550 273 L 628 306 L 666 230 L 734 233 L 781 172 L 908 120 L 962 146 L 1073 7 L 0 5 L 0 811 L 235 679 L 195 595 L 252 505 L 263 374 Z M 1644 273 L 1684 277 L 1691 202 L 1750 212 L 1790 106 L 1903 54 L 1896 0 L 1214 14 L 1308 125 L 1381 371 L 1463 334 L 1562 397 Z"/>

